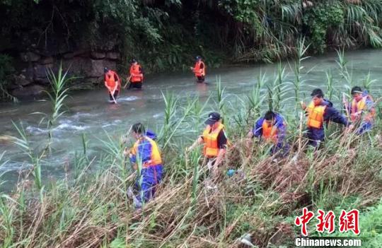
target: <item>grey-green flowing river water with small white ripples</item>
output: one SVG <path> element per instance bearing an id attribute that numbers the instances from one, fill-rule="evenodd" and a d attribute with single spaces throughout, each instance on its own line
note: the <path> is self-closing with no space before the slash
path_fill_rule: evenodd
<path id="1" fill-rule="evenodd" d="M 382 77 L 382 50 L 359 50 L 347 52 L 345 56 L 349 61 L 348 66 L 352 69 L 355 82 L 361 85 L 370 71 L 371 78 L 376 79 L 371 93 L 381 90 L 382 83 L 379 78 Z M 344 82 L 340 79 L 335 59 L 337 54 L 332 53 L 325 54 L 325 57 L 304 60 L 303 73 L 309 71 L 308 75 L 303 76 L 306 84 L 304 90 L 310 91 L 313 87 L 322 87 L 325 90 L 327 81 L 325 71 L 329 69 L 332 70 L 335 87 L 345 90 L 342 87 Z M 289 73 L 287 78 L 293 80 L 294 75 L 288 63 L 285 62 L 284 65 L 287 66 L 287 73 Z M 86 134 L 90 141 L 88 149 L 94 154 L 102 149 L 101 140 L 105 139 L 106 132 L 113 138 L 119 138 L 120 134 L 127 131 L 135 122 L 143 122 L 156 129 L 156 126 L 163 122 L 162 91 L 175 93 L 184 100 L 187 95 L 197 95 L 201 100 L 206 100 L 209 94 L 216 95 L 216 78 L 220 77 L 221 86 L 225 88 L 226 94 L 241 97 L 253 89 L 260 72 L 273 77 L 275 69 L 276 65 L 272 64 L 209 69 L 207 84 L 195 83 L 190 72 L 150 75 L 146 77 L 144 90 L 122 90 L 117 100 L 118 105 L 108 102 L 108 95 L 103 89 L 71 93 L 70 98 L 66 100 L 67 112 L 59 118 L 54 128 L 54 152 L 45 159 L 42 174 L 45 178 L 62 177 L 65 161 L 68 161 L 76 150 L 82 149 L 82 134 Z M 291 90 L 289 96 L 293 94 Z M 20 170 L 30 167 L 28 157 L 6 138 L 7 135 L 18 136 L 12 121 L 23 125 L 33 147 L 38 148 L 45 145 L 47 129 L 40 124 L 42 116 L 32 113 L 49 113 L 50 109 L 50 102 L 42 100 L 1 103 L 0 155 L 4 151 L 5 154 L 0 165 L 6 163 L 0 167 L 0 173 L 4 173 L 2 179 L 7 182 L 1 185 L 3 188 L 0 191 L 7 190 L 17 181 Z"/>

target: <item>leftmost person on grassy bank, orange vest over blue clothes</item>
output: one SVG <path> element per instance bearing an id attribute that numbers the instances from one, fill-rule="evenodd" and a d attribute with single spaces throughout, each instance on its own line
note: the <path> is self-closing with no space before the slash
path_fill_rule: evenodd
<path id="1" fill-rule="evenodd" d="M 130 163 L 134 170 L 139 170 L 136 187 L 140 194 L 137 196 L 138 206 L 154 197 L 156 187 L 163 177 L 163 163 L 158 144 L 154 141 L 153 133 L 146 132 L 143 124 L 132 126 L 132 135 L 136 139 L 134 146 L 124 154 L 129 155 Z M 149 138 L 151 136 L 151 138 Z M 154 135 L 155 137 L 155 135 Z"/>

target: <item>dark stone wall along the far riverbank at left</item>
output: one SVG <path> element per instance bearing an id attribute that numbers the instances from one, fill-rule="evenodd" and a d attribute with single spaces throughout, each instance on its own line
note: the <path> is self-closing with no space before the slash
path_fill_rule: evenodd
<path id="1" fill-rule="evenodd" d="M 69 69 L 69 76 L 79 77 L 76 81 L 80 84 L 99 85 L 103 83 L 103 69 L 115 70 L 120 53 L 82 49 L 50 55 L 35 49 L 20 52 L 20 57 L 16 59 L 18 72 L 8 84 L 8 91 L 16 98 L 29 98 L 49 89 L 47 69 L 57 71 L 61 63 L 65 71 Z"/>

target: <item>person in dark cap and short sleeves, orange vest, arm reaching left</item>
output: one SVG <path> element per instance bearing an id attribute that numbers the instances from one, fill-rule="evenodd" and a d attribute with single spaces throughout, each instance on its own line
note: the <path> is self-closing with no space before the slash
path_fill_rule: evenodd
<path id="1" fill-rule="evenodd" d="M 203 155 L 209 159 L 209 167 L 213 166 L 213 172 L 216 172 L 217 167 L 223 161 L 228 140 L 224 132 L 224 125 L 221 124 L 219 113 L 209 113 L 208 119 L 204 124 L 207 124 L 207 126 L 202 136 L 199 136 L 192 146 L 187 148 L 187 151 L 193 150 L 195 147 L 204 143 Z"/>

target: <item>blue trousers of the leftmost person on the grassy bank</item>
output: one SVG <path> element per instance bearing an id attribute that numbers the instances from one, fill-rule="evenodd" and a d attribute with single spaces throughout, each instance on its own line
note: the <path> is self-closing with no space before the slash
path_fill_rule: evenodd
<path id="1" fill-rule="evenodd" d="M 141 170 L 141 176 L 135 183 L 139 189 L 137 199 L 140 203 L 149 201 L 154 197 L 156 186 L 163 177 L 163 165 L 154 165 Z"/>

